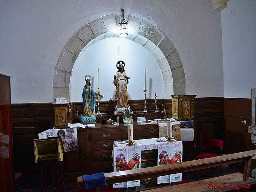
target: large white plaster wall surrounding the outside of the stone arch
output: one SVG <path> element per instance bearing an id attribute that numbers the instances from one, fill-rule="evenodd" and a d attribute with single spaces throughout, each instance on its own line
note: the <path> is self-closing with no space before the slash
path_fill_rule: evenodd
<path id="1" fill-rule="evenodd" d="M 172 40 L 187 94 L 223 96 L 221 13 L 210 0 L 1 0 L 0 73 L 11 76 L 12 103 L 53 102 L 54 68 L 67 40 L 88 21 L 121 8 Z"/>

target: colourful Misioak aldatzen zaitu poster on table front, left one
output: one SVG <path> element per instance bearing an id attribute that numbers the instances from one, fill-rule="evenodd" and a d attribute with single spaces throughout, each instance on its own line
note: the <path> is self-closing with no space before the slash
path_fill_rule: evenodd
<path id="1" fill-rule="evenodd" d="M 114 172 L 140 169 L 141 146 L 134 147 L 116 147 L 114 148 Z M 140 180 L 114 183 L 113 188 L 128 188 L 140 186 Z"/>

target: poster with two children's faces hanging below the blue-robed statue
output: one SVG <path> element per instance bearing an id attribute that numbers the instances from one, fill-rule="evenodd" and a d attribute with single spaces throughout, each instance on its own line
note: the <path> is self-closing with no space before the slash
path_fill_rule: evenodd
<path id="1" fill-rule="evenodd" d="M 63 142 L 63 147 L 66 151 L 77 150 L 77 131 L 73 128 L 68 129 L 48 129 L 38 134 L 39 139 L 47 137 L 60 137 Z"/>

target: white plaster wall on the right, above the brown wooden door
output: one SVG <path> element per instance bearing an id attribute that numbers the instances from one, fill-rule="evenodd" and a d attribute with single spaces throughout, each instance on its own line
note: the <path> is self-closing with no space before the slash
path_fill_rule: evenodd
<path id="1" fill-rule="evenodd" d="M 251 98 L 256 88 L 255 10 L 255 0 L 231 0 L 221 11 L 224 97 Z"/>

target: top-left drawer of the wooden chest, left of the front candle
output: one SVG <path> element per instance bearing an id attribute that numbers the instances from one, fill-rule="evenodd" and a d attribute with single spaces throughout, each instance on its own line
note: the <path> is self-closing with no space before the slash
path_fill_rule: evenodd
<path id="1" fill-rule="evenodd" d="M 127 130 L 125 131 L 105 131 L 91 133 L 92 141 L 102 140 L 124 140 L 127 139 Z"/>

